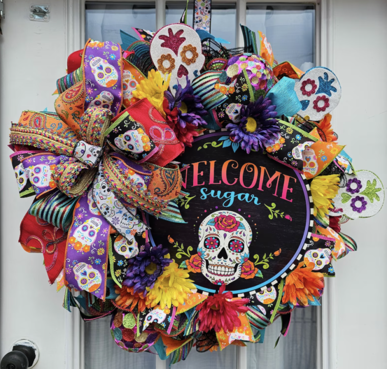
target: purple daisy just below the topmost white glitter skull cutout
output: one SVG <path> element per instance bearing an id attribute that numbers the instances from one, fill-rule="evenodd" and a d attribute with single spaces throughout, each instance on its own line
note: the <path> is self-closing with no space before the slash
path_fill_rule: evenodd
<path id="1" fill-rule="evenodd" d="M 164 97 L 168 100 L 168 108 L 172 111 L 177 107 L 178 116 L 177 123 L 185 128 L 186 123 L 195 125 L 196 127 L 206 125 L 207 122 L 202 118 L 208 114 L 202 104 L 199 96 L 193 94 L 193 88 L 187 77 L 187 85 L 182 89 L 181 85 L 177 84 L 176 94 L 173 95 L 169 91 L 164 91 Z"/>

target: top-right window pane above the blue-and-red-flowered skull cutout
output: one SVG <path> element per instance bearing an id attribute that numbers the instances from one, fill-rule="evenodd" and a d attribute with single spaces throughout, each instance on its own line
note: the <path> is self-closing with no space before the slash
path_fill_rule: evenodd
<path id="1" fill-rule="evenodd" d="M 246 26 L 262 31 L 275 59 L 303 71 L 314 66 L 314 6 L 247 4 Z"/>

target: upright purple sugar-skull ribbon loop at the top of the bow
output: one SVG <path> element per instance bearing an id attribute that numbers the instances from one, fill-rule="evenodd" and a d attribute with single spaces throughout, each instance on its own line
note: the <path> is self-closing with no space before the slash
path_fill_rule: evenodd
<path id="1" fill-rule="evenodd" d="M 117 115 L 122 104 L 121 47 L 111 41 L 90 41 L 83 61 L 85 110 L 97 106 Z"/>

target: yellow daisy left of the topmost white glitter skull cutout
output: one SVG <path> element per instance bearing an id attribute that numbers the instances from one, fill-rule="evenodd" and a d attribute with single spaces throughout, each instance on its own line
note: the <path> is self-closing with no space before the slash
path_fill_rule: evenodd
<path id="1" fill-rule="evenodd" d="M 135 91 L 133 96 L 137 99 L 147 98 L 149 102 L 165 117 L 163 110 L 164 91 L 168 89 L 171 75 L 169 74 L 166 81 L 163 80 L 159 71 L 151 69 L 148 72 L 148 78 L 142 80 Z"/>

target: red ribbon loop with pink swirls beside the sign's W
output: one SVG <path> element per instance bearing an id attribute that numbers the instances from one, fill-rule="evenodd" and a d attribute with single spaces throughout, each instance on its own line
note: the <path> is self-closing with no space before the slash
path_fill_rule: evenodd
<path id="1" fill-rule="evenodd" d="M 159 148 L 159 151 L 148 160 L 150 163 L 165 167 L 183 152 L 184 149 L 172 128 L 148 99 L 142 99 L 124 111 L 144 126 L 148 136 Z M 118 115 L 115 119 L 117 118 Z"/>

